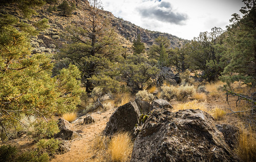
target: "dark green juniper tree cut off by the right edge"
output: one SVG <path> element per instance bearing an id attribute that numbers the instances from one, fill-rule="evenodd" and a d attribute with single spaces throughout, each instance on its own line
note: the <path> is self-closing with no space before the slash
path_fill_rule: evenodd
<path id="1" fill-rule="evenodd" d="M 227 28 L 227 53 L 229 64 L 225 67 L 224 82 L 242 81 L 245 84 L 256 84 L 256 7 L 254 0 L 243 0 L 245 7 L 234 13 Z"/>

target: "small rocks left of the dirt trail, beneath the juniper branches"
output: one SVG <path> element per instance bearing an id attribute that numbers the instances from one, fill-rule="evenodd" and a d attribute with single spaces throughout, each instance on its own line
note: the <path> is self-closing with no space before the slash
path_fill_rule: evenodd
<path id="1" fill-rule="evenodd" d="M 65 119 L 58 119 L 58 127 L 60 131 L 54 135 L 54 138 L 61 138 L 62 140 L 73 140 L 77 137 L 80 137 L 77 132 L 70 130 L 70 123 Z"/>

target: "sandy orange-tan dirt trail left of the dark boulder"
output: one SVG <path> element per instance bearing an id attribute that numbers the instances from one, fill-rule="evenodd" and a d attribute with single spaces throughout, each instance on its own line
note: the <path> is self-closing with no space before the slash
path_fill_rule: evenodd
<path id="1" fill-rule="evenodd" d="M 72 130 L 82 130 L 82 137 L 71 141 L 71 149 L 69 152 L 61 155 L 56 155 L 51 162 L 81 162 L 86 161 L 88 156 L 88 150 L 90 142 L 100 134 L 105 126 L 106 122 L 109 121 L 110 116 L 113 114 L 115 109 L 107 110 L 101 114 L 93 113 L 91 116 L 95 119 L 95 123 L 88 125 L 76 125 L 72 127 Z"/>

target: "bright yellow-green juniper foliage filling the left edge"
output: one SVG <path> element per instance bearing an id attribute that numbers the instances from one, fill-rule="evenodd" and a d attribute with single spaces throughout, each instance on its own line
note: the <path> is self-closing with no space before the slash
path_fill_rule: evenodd
<path id="1" fill-rule="evenodd" d="M 13 5 L 13 4 L 12 4 Z M 19 4 L 24 5 L 24 4 Z M 26 15 L 26 14 L 25 14 Z M 31 53 L 30 38 L 47 28 L 47 19 L 33 25 L 0 14 L 0 136 L 23 122 L 24 116 L 51 117 L 76 109 L 80 72 L 70 65 L 51 77 L 51 55 Z M 23 123 L 24 124 L 24 123 Z"/>

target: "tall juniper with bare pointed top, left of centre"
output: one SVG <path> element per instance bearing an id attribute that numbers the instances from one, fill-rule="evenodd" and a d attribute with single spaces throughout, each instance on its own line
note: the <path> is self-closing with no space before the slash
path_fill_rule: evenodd
<path id="1" fill-rule="evenodd" d="M 118 73 L 114 67 L 121 49 L 117 34 L 108 20 L 99 13 L 101 2 L 94 0 L 90 3 L 90 13 L 80 17 L 80 24 L 67 29 L 71 43 L 56 55 L 61 63 L 72 63 L 79 68 L 81 82 L 87 92 L 102 83 L 97 77 L 116 83 L 115 77 Z"/>

